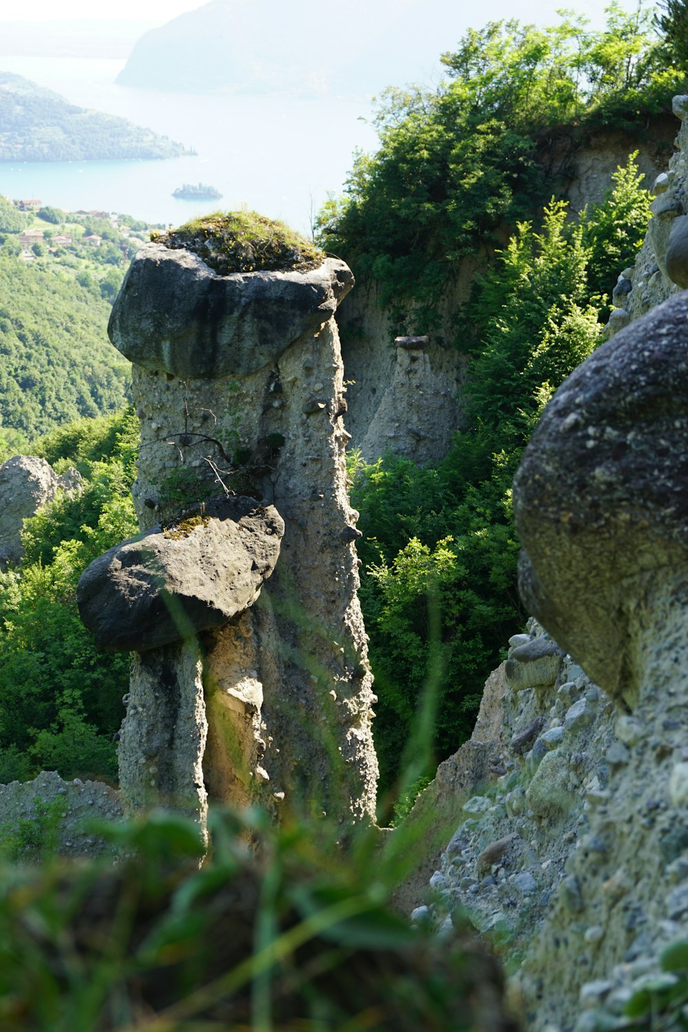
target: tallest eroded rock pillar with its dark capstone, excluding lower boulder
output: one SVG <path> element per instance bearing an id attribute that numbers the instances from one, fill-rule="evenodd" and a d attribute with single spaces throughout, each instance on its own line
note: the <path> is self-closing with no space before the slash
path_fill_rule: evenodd
<path id="1" fill-rule="evenodd" d="M 150 245 L 110 323 L 134 362 L 141 525 L 178 505 L 179 487 L 189 501 L 240 491 L 285 522 L 269 589 L 238 621 L 202 636 L 215 714 L 205 782 L 239 803 L 260 782 L 276 808 L 341 825 L 373 815 L 378 776 L 332 318 L 352 284 L 336 259 L 304 272 L 222 277 L 194 254 Z M 223 721 L 238 721 L 253 743 L 234 780 Z"/>

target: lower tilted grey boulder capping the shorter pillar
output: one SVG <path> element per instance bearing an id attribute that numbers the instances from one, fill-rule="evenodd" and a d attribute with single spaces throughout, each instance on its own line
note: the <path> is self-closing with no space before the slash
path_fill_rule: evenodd
<path id="1" fill-rule="evenodd" d="M 188 533 L 154 527 L 116 545 L 84 572 L 76 601 L 99 648 L 170 645 L 256 601 L 280 554 L 282 517 L 245 497 L 206 503 L 203 515 L 207 521 Z"/>

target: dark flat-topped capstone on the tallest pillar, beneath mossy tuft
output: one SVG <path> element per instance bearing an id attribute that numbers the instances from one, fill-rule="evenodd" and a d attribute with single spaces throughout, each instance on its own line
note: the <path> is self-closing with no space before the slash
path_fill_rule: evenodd
<path id="1" fill-rule="evenodd" d="M 354 285 L 338 258 L 306 271 L 218 276 L 190 251 L 146 244 L 107 331 L 130 361 L 181 379 L 248 376 L 315 333 Z"/>

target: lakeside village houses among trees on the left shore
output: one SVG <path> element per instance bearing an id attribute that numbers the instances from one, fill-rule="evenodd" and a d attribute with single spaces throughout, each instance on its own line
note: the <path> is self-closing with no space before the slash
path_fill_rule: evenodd
<path id="1" fill-rule="evenodd" d="M 137 223 L 133 227 L 129 226 L 122 221 L 126 217 L 111 212 L 87 212 L 85 208 L 79 208 L 76 212 L 63 212 L 44 205 L 39 198 L 14 200 L 3 195 L 3 199 L 18 212 L 29 217 L 26 228 L 18 234 L 18 240 L 22 248 L 21 256 L 26 262 L 35 261 L 36 258 L 45 254 L 56 255 L 61 249 L 70 251 L 83 246 L 101 248 L 104 244 L 111 243 L 105 229 L 101 233 L 97 233 L 93 229 L 85 230 L 81 223 L 87 220 L 107 223 L 117 234 L 116 238 L 125 237 L 125 240 L 121 241 L 125 257 L 129 256 L 130 249 L 125 243 L 129 237 L 138 241 L 148 239 L 148 231 L 145 231 L 144 236 L 140 235 L 142 223 Z M 32 221 L 31 216 L 33 216 Z M 52 228 L 53 226 L 55 228 Z M 69 227 L 69 232 L 67 227 Z"/>

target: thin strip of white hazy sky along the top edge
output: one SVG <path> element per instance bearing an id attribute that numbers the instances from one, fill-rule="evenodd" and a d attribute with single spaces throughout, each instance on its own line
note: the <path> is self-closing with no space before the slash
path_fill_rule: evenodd
<path id="1" fill-rule="evenodd" d="M 22 0 L 11 3 L 10 0 L 0 0 L 0 22 L 40 22 L 85 18 L 89 20 L 141 19 L 143 21 L 159 21 L 162 25 L 177 14 L 187 10 L 202 7 L 207 0 L 118 0 L 114 7 L 109 4 L 95 4 L 93 0 Z M 285 0 L 274 0 L 283 4 Z M 307 3 L 318 10 L 314 0 L 289 0 L 292 6 Z M 384 4 L 386 0 L 370 0 L 372 8 Z M 599 24 L 603 18 L 603 3 L 595 0 L 483 0 L 480 4 L 468 3 L 467 0 L 396 0 L 397 10 L 425 10 L 428 14 L 428 28 L 437 20 L 447 20 L 452 26 L 476 28 L 486 22 L 501 18 L 518 18 L 522 22 L 543 24 L 550 20 L 556 21 L 555 11 L 560 7 L 572 7 L 578 12 L 586 14 L 593 24 Z M 623 6 L 634 7 L 632 0 L 624 0 Z M 346 8 L 342 8 L 346 10 Z"/>

